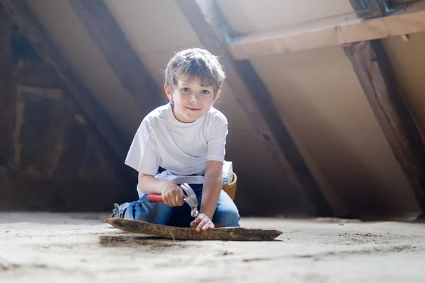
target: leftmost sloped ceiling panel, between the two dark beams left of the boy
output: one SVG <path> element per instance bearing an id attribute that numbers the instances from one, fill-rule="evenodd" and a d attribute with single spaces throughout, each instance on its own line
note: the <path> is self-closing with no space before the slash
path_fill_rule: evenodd
<path id="1" fill-rule="evenodd" d="M 139 121 L 147 113 L 140 110 L 135 99 L 120 84 L 69 1 L 26 1 L 68 60 L 69 67 L 79 75 L 98 105 L 108 112 L 130 142 Z"/>

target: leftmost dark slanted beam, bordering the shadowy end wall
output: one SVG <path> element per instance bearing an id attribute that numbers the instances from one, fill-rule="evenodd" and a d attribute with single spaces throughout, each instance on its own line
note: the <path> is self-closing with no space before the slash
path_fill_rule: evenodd
<path id="1" fill-rule="evenodd" d="M 98 107 L 90 91 L 81 83 L 77 74 L 72 70 L 71 64 L 52 42 L 41 23 L 30 11 L 26 1 L 5 0 L 4 4 L 13 21 L 26 34 L 43 62 L 52 66 L 64 81 L 67 93 L 74 98 L 77 108 L 89 122 L 90 130 L 88 132 L 97 141 L 103 154 L 110 158 L 111 163 L 126 184 L 134 183 L 130 181 L 132 177 L 123 165 L 127 155 L 128 141 L 124 141 L 118 129 L 108 119 L 106 112 Z"/>

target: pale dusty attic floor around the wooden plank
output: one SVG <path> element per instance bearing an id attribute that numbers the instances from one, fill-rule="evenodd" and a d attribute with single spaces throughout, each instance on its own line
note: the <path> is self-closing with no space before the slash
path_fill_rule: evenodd
<path id="1" fill-rule="evenodd" d="M 108 214 L 0 213 L 0 282 L 425 282 L 425 224 L 243 219 L 278 241 L 168 241 Z"/>

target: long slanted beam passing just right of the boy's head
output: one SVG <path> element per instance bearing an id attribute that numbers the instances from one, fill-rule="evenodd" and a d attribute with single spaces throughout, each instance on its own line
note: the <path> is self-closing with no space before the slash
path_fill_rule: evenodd
<path id="1" fill-rule="evenodd" d="M 235 62 L 227 51 L 226 44 L 232 33 L 215 1 L 177 0 L 176 2 L 198 35 L 200 43 L 213 54 L 220 56 L 227 84 L 251 119 L 266 149 L 271 151 L 277 166 L 286 173 L 298 190 L 305 191 L 316 214 L 331 216 L 331 208 L 280 119 L 266 86 L 249 61 Z"/>

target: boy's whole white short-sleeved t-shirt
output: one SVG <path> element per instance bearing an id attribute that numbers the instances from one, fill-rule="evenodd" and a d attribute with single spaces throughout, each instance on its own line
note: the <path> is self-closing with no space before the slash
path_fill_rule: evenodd
<path id="1" fill-rule="evenodd" d="M 227 132 L 225 115 L 212 106 L 195 122 L 183 123 L 168 103 L 142 120 L 125 164 L 159 180 L 200 184 L 207 161 L 225 160 Z M 159 166 L 166 171 L 157 174 Z"/>

